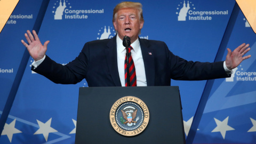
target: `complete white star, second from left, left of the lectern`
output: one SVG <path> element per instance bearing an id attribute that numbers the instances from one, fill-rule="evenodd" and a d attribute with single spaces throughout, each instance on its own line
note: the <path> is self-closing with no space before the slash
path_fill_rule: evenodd
<path id="1" fill-rule="evenodd" d="M 44 139 L 46 141 L 48 140 L 49 133 L 58 132 L 51 127 L 52 118 L 50 118 L 46 123 L 42 123 L 42 122 L 38 121 L 37 119 L 36 119 L 36 121 L 40 128 L 34 134 L 43 134 Z"/>

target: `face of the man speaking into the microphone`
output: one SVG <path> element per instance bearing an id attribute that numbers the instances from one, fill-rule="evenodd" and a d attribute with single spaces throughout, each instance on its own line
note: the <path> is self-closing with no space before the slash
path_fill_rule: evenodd
<path id="1" fill-rule="evenodd" d="M 113 24 L 121 39 L 124 36 L 129 36 L 131 43 L 133 43 L 138 38 L 144 23 L 140 21 L 138 14 L 139 10 L 131 8 L 123 8 L 117 12 L 117 17 Z"/>

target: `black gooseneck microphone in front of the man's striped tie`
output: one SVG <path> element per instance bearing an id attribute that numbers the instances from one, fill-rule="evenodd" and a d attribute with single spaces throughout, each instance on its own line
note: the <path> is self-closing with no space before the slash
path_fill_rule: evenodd
<path id="1" fill-rule="evenodd" d="M 126 73 L 127 73 L 127 86 L 131 86 L 130 82 L 130 67 L 129 67 L 129 46 L 131 45 L 131 38 L 129 36 L 124 36 L 123 46 L 126 49 Z"/>

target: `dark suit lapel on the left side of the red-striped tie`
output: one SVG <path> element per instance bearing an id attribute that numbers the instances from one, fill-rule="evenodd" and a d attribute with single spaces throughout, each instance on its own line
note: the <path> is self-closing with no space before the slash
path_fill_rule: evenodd
<path id="1" fill-rule="evenodd" d="M 105 49 L 108 68 L 116 86 L 122 86 L 117 67 L 116 36 L 111 38 Z"/>

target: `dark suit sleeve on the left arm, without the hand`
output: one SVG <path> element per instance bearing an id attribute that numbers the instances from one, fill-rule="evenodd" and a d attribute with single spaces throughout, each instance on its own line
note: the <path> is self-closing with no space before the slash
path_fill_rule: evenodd
<path id="1" fill-rule="evenodd" d="M 36 69 L 32 67 L 31 70 L 57 84 L 76 84 L 86 77 L 88 68 L 89 44 L 86 43 L 78 57 L 65 66 L 56 63 L 46 55 L 45 60 Z"/>

